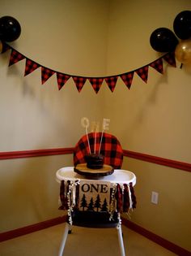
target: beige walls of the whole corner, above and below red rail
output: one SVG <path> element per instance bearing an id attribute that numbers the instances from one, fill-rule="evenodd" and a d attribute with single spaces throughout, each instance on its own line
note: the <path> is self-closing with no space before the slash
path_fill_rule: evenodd
<path id="1" fill-rule="evenodd" d="M 128 72 L 161 54 L 151 49 L 155 28 L 172 29 L 185 1 L 2 1 L 0 15 L 12 15 L 22 34 L 11 45 L 28 58 L 58 72 L 105 76 Z M 72 80 L 61 91 L 56 77 L 40 85 L 40 70 L 23 77 L 24 62 L 8 67 L 0 56 L 0 151 L 74 146 L 84 133 L 82 116 L 111 119 L 110 132 L 125 150 L 190 163 L 190 68 L 165 65 L 164 75 L 150 68 L 145 84 L 134 75 L 132 88 L 119 79 L 114 93 L 95 93 L 87 82 L 78 93 Z M 180 64 L 180 63 L 179 63 Z M 60 215 L 55 171 L 71 156 L 0 162 L 0 230 L 38 223 Z M 185 249 L 189 245 L 190 174 L 125 159 L 138 177 L 138 208 L 132 221 Z M 151 204 L 151 191 L 159 204 Z M 178 224 L 177 224 L 178 223 Z"/>

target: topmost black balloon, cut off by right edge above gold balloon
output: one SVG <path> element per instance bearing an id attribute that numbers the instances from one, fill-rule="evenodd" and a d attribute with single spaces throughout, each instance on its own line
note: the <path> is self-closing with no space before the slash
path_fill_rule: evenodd
<path id="1" fill-rule="evenodd" d="M 191 11 L 181 11 L 173 23 L 174 32 L 180 39 L 191 37 Z"/>

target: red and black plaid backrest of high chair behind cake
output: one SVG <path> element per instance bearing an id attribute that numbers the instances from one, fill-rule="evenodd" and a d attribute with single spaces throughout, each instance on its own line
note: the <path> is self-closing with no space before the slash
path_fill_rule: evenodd
<path id="1" fill-rule="evenodd" d="M 106 132 L 103 133 L 101 148 L 102 132 L 91 132 L 88 133 L 88 139 L 91 147 L 91 153 L 95 150 L 95 137 L 96 137 L 96 154 L 99 153 L 104 155 L 104 163 L 111 165 L 114 169 L 121 169 L 123 163 L 123 150 L 117 137 Z M 87 135 L 84 135 L 74 147 L 74 166 L 79 163 L 86 163 L 85 155 L 89 154 L 89 146 L 87 141 Z"/>

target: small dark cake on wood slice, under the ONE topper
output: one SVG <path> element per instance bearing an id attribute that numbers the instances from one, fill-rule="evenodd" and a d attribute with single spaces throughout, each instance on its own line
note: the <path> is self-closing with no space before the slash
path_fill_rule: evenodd
<path id="1" fill-rule="evenodd" d="M 100 169 L 104 165 L 104 156 L 102 154 L 87 154 L 85 156 L 87 168 Z"/>

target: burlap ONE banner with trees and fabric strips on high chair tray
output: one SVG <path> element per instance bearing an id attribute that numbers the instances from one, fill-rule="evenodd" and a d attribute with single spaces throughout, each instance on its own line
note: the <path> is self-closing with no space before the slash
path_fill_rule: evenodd
<path id="1" fill-rule="evenodd" d="M 68 210 L 70 206 L 74 210 L 80 211 L 110 211 L 120 213 L 129 213 L 130 209 L 136 208 L 137 200 L 134 194 L 134 187 L 132 183 L 129 184 L 115 184 L 114 198 L 112 199 L 113 185 L 110 182 L 100 180 L 78 180 L 74 185 L 70 180 L 61 180 L 60 184 L 60 206 L 59 210 Z M 84 191 L 84 185 L 90 187 L 93 185 L 104 185 L 107 190 L 104 193 L 101 191 L 90 192 Z M 74 205 L 73 205 L 74 204 Z"/>

